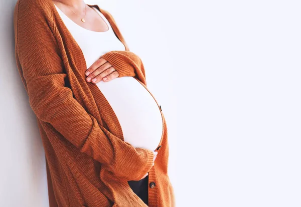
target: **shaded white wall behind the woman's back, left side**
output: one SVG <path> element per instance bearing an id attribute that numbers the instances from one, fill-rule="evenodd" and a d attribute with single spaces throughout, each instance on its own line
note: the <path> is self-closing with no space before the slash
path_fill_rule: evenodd
<path id="1" fill-rule="evenodd" d="M 14 51 L 16 1 L 0 1 L 0 205 L 48 206 L 45 154 Z"/>

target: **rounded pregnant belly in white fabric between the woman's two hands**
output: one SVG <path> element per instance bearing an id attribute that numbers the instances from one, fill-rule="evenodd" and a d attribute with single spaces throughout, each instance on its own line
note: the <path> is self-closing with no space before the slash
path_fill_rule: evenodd
<path id="1" fill-rule="evenodd" d="M 124 141 L 134 147 L 155 150 L 162 138 L 163 119 L 152 94 L 128 76 L 96 85 L 115 112 Z"/>

